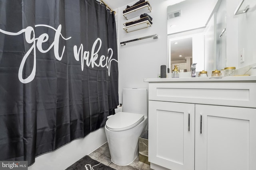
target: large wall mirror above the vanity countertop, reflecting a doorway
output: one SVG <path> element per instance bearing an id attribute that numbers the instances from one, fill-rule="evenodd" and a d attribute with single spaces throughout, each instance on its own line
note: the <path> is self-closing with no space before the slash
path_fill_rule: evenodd
<path id="1" fill-rule="evenodd" d="M 167 7 L 170 70 L 178 65 L 180 72 L 189 72 L 192 63 L 196 71 L 226 66 L 225 1 L 185 0 Z"/>

